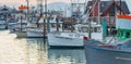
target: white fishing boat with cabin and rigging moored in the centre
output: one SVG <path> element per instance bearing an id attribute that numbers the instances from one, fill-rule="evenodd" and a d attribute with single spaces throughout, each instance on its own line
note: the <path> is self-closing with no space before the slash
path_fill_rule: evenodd
<path id="1" fill-rule="evenodd" d="M 94 3 L 96 4 L 96 3 Z M 93 9 L 90 9 L 91 11 Z M 90 18 L 92 12 L 87 12 L 82 17 L 82 24 L 74 25 L 74 31 L 62 31 L 62 33 L 53 33 L 48 34 L 48 42 L 49 47 L 60 47 L 60 48 L 83 48 L 84 47 L 84 39 L 92 37 L 96 40 L 103 40 L 103 26 L 98 21 L 94 18 Z M 90 21 L 92 20 L 92 21 Z M 85 23 L 84 23 L 85 21 Z M 92 34 L 90 34 L 92 31 Z M 97 36 L 97 37 L 96 37 Z"/>

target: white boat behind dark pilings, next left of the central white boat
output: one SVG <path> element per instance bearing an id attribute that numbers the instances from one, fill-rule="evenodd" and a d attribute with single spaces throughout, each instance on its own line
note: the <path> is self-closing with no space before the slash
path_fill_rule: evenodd
<path id="1" fill-rule="evenodd" d="M 38 25 L 37 25 L 38 24 Z M 27 25 L 27 37 L 29 38 L 41 38 L 45 37 L 44 36 L 44 25 L 48 24 L 48 22 L 46 21 L 44 23 L 44 18 L 40 18 L 38 21 L 38 23 L 31 23 Z M 53 20 L 49 20 L 49 31 L 57 31 L 57 22 L 56 22 L 56 17 L 53 17 Z M 62 30 L 62 22 L 59 22 L 59 30 Z M 47 27 L 46 27 L 46 33 L 48 33 Z M 47 37 L 47 36 L 46 36 Z"/>

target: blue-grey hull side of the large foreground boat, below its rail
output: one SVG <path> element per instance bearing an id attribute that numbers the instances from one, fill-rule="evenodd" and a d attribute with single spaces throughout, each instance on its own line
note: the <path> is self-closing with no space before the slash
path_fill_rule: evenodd
<path id="1" fill-rule="evenodd" d="M 86 47 L 86 64 L 131 64 L 131 54 Z"/>

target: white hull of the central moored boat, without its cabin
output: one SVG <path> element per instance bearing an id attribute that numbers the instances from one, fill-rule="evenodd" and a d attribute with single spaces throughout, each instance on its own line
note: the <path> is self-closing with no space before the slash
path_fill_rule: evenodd
<path id="1" fill-rule="evenodd" d="M 83 38 L 59 37 L 48 34 L 48 42 L 50 47 L 83 47 Z"/>

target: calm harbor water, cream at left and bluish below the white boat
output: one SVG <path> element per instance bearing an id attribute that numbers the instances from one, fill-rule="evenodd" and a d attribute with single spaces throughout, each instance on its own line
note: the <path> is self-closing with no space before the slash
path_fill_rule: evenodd
<path id="1" fill-rule="evenodd" d="M 86 64 L 83 49 L 48 49 L 43 38 L 0 30 L 0 64 Z"/>

